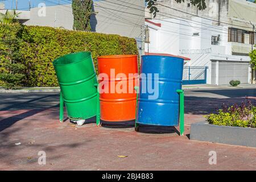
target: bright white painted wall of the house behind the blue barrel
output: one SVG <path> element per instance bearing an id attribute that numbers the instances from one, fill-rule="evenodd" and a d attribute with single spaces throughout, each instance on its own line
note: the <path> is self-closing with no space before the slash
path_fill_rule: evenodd
<path id="1" fill-rule="evenodd" d="M 154 53 L 170 53 L 189 57 L 187 66 L 208 67 L 207 83 L 212 83 L 212 62 L 211 60 L 220 57 L 228 61 L 249 61 L 247 56 L 232 56 L 234 44 L 228 42 L 228 27 L 227 26 L 211 26 L 211 20 L 201 19 L 199 17 L 189 20 L 163 19 L 152 20 L 155 23 L 161 23 L 161 27 L 155 26 L 152 23 L 146 22 L 150 28 L 150 44 L 149 51 Z M 199 36 L 193 36 L 193 32 L 199 32 Z M 212 36 L 220 36 L 219 45 L 212 45 Z M 239 44 L 239 43 L 238 43 Z M 240 45 L 246 47 L 247 45 Z M 203 52 L 205 49 L 210 52 Z M 182 50 L 189 50 L 190 53 L 183 54 Z M 197 52 L 197 50 L 202 51 Z M 215 56 L 212 56 L 215 55 Z"/>

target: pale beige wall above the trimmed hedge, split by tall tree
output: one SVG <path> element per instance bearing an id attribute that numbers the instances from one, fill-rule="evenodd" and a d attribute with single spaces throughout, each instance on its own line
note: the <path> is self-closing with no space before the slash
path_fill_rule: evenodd
<path id="1" fill-rule="evenodd" d="M 72 5 L 46 6 L 45 16 L 38 15 L 42 10 L 42 8 L 38 7 L 32 8 L 30 19 L 24 24 L 64 27 L 65 29 L 73 30 Z M 93 1 L 93 11 L 96 14 L 90 16 L 92 31 L 104 34 L 118 34 L 130 38 L 142 38 L 144 0 L 127 0 L 123 2 L 97 0 Z"/>

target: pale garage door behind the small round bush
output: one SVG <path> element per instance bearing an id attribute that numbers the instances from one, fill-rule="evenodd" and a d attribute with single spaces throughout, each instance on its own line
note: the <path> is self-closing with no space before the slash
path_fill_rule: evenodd
<path id="1" fill-rule="evenodd" d="M 231 80 L 240 80 L 242 84 L 248 83 L 249 63 L 219 61 L 218 63 L 218 84 L 226 85 Z M 212 81 L 216 82 L 216 61 L 212 62 Z M 215 75 L 216 77 L 216 75 Z"/>

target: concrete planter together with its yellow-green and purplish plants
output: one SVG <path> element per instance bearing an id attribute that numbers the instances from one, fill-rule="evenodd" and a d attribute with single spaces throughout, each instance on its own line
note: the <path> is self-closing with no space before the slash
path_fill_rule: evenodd
<path id="1" fill-rule="evenodd" d="M 191 125 L 190 139 L 256 147 L 256 107 L 251 101 L 223 105 L 218 113 L 206 118 L 207 121 Z"/>

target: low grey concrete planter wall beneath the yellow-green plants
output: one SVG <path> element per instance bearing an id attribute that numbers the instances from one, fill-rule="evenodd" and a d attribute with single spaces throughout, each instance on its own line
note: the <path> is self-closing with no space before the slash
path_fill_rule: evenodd
<path id="1" fill-rule="evenodd" d="M 206 121 L 191 124 L 191 140 L 256 147 L 255 138 L 254 128 L 210 125 Z"/>

